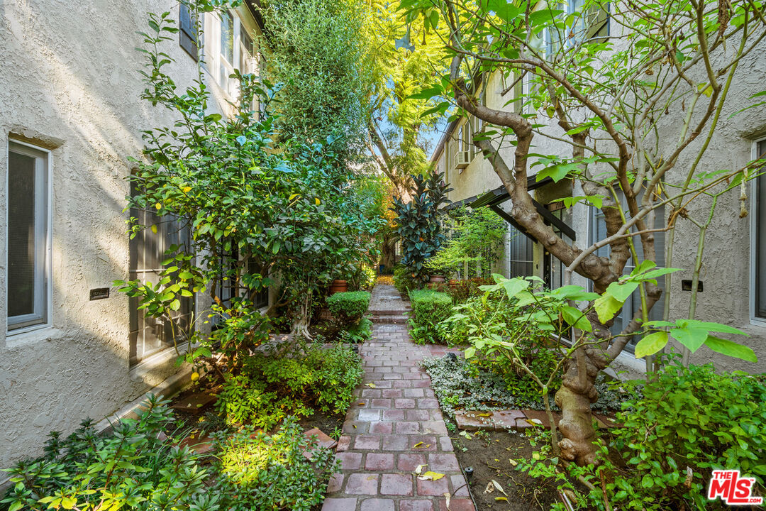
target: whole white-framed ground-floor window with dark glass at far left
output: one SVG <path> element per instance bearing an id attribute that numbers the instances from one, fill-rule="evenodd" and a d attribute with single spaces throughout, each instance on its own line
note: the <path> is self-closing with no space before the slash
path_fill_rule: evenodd
<path id="1" fill-rule="evenodd" d="M 8 142 L 8 330 L 49 323 L 50 152 Z"/>

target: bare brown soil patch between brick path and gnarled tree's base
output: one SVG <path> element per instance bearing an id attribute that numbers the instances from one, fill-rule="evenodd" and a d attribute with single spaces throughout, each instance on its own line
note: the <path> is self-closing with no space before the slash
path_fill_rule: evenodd
<path id="1" fill-rule="evenodd" d="M 548 511 L 558 501 L 552 483 L 536 480 L 514 469 L 510 460 L 532 457 L 535 450 L 529 439 L 507 431 L 471 433 L 471 440 L 457 434 L 452 436 L 460 466 L 473 467 L 470 491 L 476 511 Z M 463 450 L 463 449 L 467 450 Z M 498 490 L 485 493 L 495 480 L 508 494 L 508 501 L 495 500 L 503 494 Z"/>

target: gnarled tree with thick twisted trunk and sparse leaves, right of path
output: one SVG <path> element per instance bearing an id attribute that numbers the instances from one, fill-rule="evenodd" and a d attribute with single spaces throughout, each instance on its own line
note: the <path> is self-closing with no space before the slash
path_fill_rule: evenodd
<path id="1" fill-rule="evenodd" d="M 762 51 L 766 35 L 764 5 L 750 0 L 583 3 L 580 10 L 566 13 L 555 2 L 531 0 L 401 2 L 408 21 L 423 19 L 447 28 L 443 42 L 450 72 L 423 94 L 446 97 L 461 113 L 484 121 L 473 143 L 509 193 L 512 218 L 563 261 L 567 281 L 577 273 L 601 295 L 588 309 L 594 342 L 582 342 L 571 352 L 556 395 L 564 413 L 561 454 L 581 464 L 593 461 L 595 454 L 589 405 L 597 397 L 594 379 L 633 336 L 643 336 L 638 355 L 662 349 L 673 336 L 692 352 L 705 344 L 751 359 L 751 352 L 729 341 L 722 346 L 722 339 L 710 333 L 732 332 L 731 327 L 700 325 L 694 316 L 705 230 L 717 199 L 744 187 L 755 167 L 703 172 L 700 162 L 725 103 L 732 100 L 728 95 L 739 64 Z M 594 22 L 607 17 L 613 34 L 604 37 Z M 512 99 L 524 103 L 529 113 L 479 100 L 489 77 L 498 75 L 507 84 L 500 103 L 516 89 Z M 526 92 L 516 87 L 522 82 Z M 561 150 L 533 152 L 545 140 Z M 606 237 L 581 248 L 545 224 L 527 188 L 535 166 L 538 180 L 574 180 L 569 206 L 574 201 L 600 210 Z M 698 208 L 691 208 L 692 199 Z M 669 210 L 669 221 L 656 228 L 660 208 Z M 657 260 L 655 234 L 665 231 L 672 247 L 681 222 L 699 230 L 689 319 L 651 323 L 648 313 L 660 302 L 656 277 L 662 273 L 630 280 L 624 269 L 632 259 L 644 275 L 659 271 L 650 269 Z M 597 257 L 597 249 L 606 246 L 609 256 Z M 630 322 L 612 335 L 614 315 L 633 290 L 639 290 L 640 307 L 625 311 Z"/>

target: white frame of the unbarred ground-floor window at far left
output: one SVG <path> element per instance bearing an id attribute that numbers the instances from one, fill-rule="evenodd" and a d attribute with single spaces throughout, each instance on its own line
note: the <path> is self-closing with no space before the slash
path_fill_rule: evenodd
<path id="1" fill-rule="evenodd" d="M 42 252 L 43 257 L 42 261 L 39 264 L 39 268 L 35 270 L 35 280 L 39 279 L 41 280 L 40 283 L 35 282 L 35 313 L 32 313 L 31 315 L 25 315 L 21 316 L 22 318 L 26 319 L 17 319 L 11 323 L 11 318 L 8 316 L 8 227 L 10 225 L 10 156 L 11 156 L 11 146 L 17 146 L 18 148 L 21 148 L 21 151 L 15 151 L 20 154 L 23 154 L 25 156 L 31 156 L 35 159 L 43 159 L 42 164 L 42 179 L 43 179 L 43 186 L 42 187 L 36 187 L 35 189 L 35 212 L 37 213 L 40 211 L 41 208 L 44 208 L 42 211 L 42 215 L 38 217 L 38 221 L 44 221 L 44 225 L 42 226 L 42 235 L 41 239 L 38 238 L 38 234 L 36 234 L 36 242 L 42 241 L 44 246 L 41 249 L 38 249 Z M 5 155 L 6 155 L 6 162 L 8 165 L 8 168 L 5 172 L 5 273 L 6 273 L 6 282 L 5 282 L 5 335 L 7 337 L 10 336 L 18 336 L 21 334 L 24 334 L 25 332 L 32 332 L 34 330 L 44 329 L 44 328 L 50 328 L 52 326 L 51 322 L 51 311 L 53 310 L 53 286 L 51 285 L 52 280 L 52 274 L 53 274 L 53 261 L 52 261 L 52 247 L 53 247 L 53 152 L 50 149 L 45 149 L 41 146 L 35 146 L 34 144 L 23 142 L 18 139 L 9 138 L 6 142 L 6 149 L 5 149 Z M 42 196 L 41 196 L 42 195 Z M 38 201 L 40 203 L 38 203 Z M 37 230 L 36 226 L 36 230 Z M 41 272 L 38 276 L 38 271 Z M 38 289 L 38 287 L 41 287 L 41 289 Z M 38 294 L 39 293 L 39 294 Z M 40 312 L 37 312 L 38 307 L 41 309 Z M 32 316 L 32 317 L 27 317 Z M 15 316 L 19 317 L 19 316 Z M 13 328 L 11 326 L 13 325 Z M 15 326 L 18 325 L 18 326 Z"/>

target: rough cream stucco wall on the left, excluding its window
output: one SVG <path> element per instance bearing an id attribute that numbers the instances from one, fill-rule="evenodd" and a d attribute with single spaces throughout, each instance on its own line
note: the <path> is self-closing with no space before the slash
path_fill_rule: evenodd
<path id="1" fill-rule="evenodd" d="M 112 287 L 129 267 L 127 158 L 141 154 L 141 129 L 171 122 L 167 110 L 139 100 L 136 31 L 146 30 L 148 11 L 178 20 L 172 0 L 0 3 L 0 174 L 8 174 L 9 137 L 21 138 L 51 149 L 53 179 L 52 328 L 15 336 L 0 329 L 0 467 L 40 453 L 48 431 L 68 434 L 85 417 L 99 420 L 178 370 L 173 356 L 130 370 L 128 299 Z M 168 67 L 176 83 L 191 84 L 196 64 L 178 40 L 163 50 L 176 59 Z M 6 231 L 3 214 L 3 324 L 13 300 Z M 90 301 L 95 287 L 112 287 L 111 296 Z"/>

